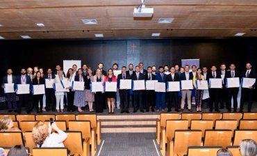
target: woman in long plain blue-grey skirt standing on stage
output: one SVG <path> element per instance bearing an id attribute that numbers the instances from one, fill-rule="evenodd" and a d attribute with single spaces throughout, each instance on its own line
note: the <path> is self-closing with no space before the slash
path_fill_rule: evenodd
<path id="1" fill-rule="evenodd" d="M 75 76 L 74 81 L 83 81 L 85 87 L 85 79 L 82 69 L 79 68 L 78 75 Z M 78 112 L 83 112 L 81 107 L 85 107 L 85 91 L 75 91 L 74 106 L 78 107 Z"/>

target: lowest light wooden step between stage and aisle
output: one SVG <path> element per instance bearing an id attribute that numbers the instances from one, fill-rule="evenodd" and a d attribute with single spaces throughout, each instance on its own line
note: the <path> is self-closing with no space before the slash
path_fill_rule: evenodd
<path id="1" fill-rule="evenodd" d="M 101 133 L 155 133 L 156 125 L 104 125 Z"/>

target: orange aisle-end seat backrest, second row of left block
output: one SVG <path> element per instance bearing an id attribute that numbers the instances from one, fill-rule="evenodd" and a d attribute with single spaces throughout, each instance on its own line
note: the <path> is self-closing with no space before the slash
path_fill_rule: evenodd
<path id="1" fill-rule="evenodd" d="M 69 120 L 69 131 L 81 131 L 83 139 L 91 139 L 90 120 Z"/>

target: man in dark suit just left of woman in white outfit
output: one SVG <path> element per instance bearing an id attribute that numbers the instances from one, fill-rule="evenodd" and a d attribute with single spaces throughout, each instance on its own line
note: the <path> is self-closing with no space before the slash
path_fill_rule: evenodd
<path id="1" fill-rule="evenodd" d="M 47 75 L 44 75 L 44 79 L 55 79 L 56 75 L 53 75 L 51 68 L 47 69 Z M 46 91 L 46 110 L 55 111 L 56 110 L 56 96 L 54 94 L 53 88 L 45 88 Z"/>

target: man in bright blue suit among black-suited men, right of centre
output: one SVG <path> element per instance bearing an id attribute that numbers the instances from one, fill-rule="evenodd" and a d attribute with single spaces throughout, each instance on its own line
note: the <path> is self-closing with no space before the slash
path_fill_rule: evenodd
<path id="1" fill-rule="evenodd" d="M 158 68 L 159 72 L 156 74 L 156 80 L 166 84 L 167 75 L 165 75 L 163 66 Z M 165 92 L 156 92 L 156 111 L 165 111 Z"/>

